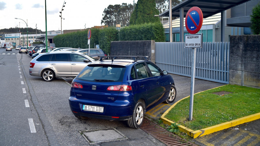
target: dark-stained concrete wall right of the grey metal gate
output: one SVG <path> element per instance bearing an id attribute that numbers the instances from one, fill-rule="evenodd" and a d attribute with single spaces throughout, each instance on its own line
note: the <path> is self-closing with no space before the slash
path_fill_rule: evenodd
<path id="1" fill-rule="evenodd" d="M 260 35 L 230 36 L 229 83 L 260 88 Z"/>

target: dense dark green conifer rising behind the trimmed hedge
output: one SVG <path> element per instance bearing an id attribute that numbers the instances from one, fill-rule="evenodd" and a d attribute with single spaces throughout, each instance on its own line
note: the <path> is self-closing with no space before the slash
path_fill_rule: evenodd
<path id="1" fill-rule="evenodd" d="M 159 11 L 155 8 L 155 0 L 138 0 L 130 18 L 130 25 L 159 22 Z"/>

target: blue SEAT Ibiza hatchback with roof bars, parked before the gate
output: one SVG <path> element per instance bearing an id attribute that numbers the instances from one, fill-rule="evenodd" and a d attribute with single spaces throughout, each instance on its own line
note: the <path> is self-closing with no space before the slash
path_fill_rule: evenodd
<path id="1" fill-rule="evenodd" d="M 132 57 L 97 61 L 77 75 L 69 97 L 75 117 L 127 120 L 129 127 L 139 128 L 146 111 L 175 100 L 176 88 L 168 72 L 147 58 Z"/>

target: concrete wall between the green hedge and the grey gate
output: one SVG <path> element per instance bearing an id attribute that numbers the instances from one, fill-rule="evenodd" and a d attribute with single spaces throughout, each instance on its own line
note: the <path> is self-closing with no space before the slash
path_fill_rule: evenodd
<path id="1" fill-rule="evenodd" d="M 113 41 L 111 54 L 114 56 L 149 56 L 148 60 L 155 63 L 155 41 Z M 142 58 L 143 59 L 143 58 Z"/>

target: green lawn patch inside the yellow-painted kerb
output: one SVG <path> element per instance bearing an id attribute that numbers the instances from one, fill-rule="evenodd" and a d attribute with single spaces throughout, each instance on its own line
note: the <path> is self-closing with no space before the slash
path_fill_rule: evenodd
<path id="1" fill-rule="evenodd" d="M 224 96 L 214 92 L 232 92 Z M 200 130 L 260 113 L 260 89 L 225 85 L 194 95 L 193 116 L 189 121 L 190 98 L 180 101 L 174 106 L 165 118 L 180 123 L 192 130 Z"/>

